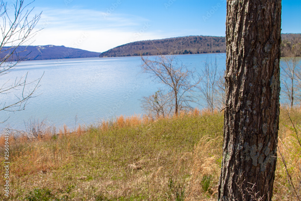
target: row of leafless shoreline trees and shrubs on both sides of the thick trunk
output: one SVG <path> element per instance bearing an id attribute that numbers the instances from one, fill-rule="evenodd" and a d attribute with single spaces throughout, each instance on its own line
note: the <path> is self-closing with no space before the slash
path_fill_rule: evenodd
<path id="1" fill-rule="evenodd" d="M 281 55 L 285 55 L 280 62 L 281 93 L 282 102 L 292 108 L 301 101 L 301 34 L 288 38 L 281 43 Z M 225 68 L 219 70 L 216 56 L 207 57 L 201 72 L 197 72 L 188 70 L 175 55 L 163 55 L 159 48 L 157 51 L 157 57 L 141 55 L 143 72 L 166 86 L 141 99 L 149 116 L 177 115 L 192 109 L 191 103 L 210 111 L 225 107 Z"/>

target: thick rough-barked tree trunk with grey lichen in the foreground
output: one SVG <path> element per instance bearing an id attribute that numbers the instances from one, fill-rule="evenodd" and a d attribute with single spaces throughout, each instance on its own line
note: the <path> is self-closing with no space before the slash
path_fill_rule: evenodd
<path id="1" fill-rule="evenodd" d="M 226 108 L 219 201 L 272 199 L 279 126 L 280 43 L 281 0 L 227 1 Z"/>

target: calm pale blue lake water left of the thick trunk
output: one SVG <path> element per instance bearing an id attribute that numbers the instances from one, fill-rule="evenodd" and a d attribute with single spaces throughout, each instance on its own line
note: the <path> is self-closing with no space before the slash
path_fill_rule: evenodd
<path id="1" fill-rule="evenodd" d="M 178 55 L 177 58 L 188 68 L 201 72 L 203 61 L 215 56 L 219 68 L 225 69 L 225 53 Z M 90 125 L 119 115 L 141 115 L 144 111 L 139 99 L 162 86 L 141 73 L 140 57 L 24 61 L 0 77 L 1 83 L 14 81 L 27 72 L 28 81 L 44 73 L 34 94 L 38 96 L 29 99 L 23 111 L 0 111 L 0 121 L 8 118 L 0 127 L 22 130 L 30 118 L 47 118 L 48 124 L 57 128 L 64 124 L 72 128 L 75 117 L 76 124 Z M 27 90 L 30 86 L 34 85 L 29 85 Z M 2 101 L 10 102 L 14 98 L 12 94 L 1 95 Z"/>

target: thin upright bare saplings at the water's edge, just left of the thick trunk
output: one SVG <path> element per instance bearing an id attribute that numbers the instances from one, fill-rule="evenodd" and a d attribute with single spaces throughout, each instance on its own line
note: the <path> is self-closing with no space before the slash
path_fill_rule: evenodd
<path id="1" fill-rule="evenodd" d="M 200 81 L 199 89 L 201 97 L 207 103 L 207 108 L 213 111 L 215 108 L 221 109 L 222 103 L 225 100 L 225 75 L 218 71 L 218 63 L 212 58 L 206 58 L 204 61 L 204 68 L 202 70 L 202 79 Z"/>

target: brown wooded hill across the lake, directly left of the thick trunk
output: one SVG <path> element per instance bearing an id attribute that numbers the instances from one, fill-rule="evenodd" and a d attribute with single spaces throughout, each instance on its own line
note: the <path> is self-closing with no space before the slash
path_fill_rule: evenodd
<path id="1" fill-rule="evenodd" d="M 185 36 L 131 42 L 103 52 L 99 57 L 158 55 L 160 53 L 155 46 L 163 55 L 226 52 L 225 37 Z"/>

